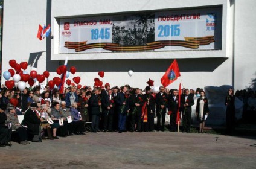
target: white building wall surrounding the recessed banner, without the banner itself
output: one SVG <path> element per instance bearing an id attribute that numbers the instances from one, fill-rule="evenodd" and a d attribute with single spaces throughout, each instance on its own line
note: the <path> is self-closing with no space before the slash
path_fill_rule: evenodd
<path id="1" fill-rule="evenodd" d="M 48 2 L 48 4 L 47 4 Z M 202 53 L 184 53 L 187 54 L 188 59 L 178 59 L 179 68 L 181 71 L 182 82 L 184 88 L 195 89 L 197 87 L 203 88 L 204 86 L 220 86 L 223 84 L 232 85 L 232 7 L 229 5 L 228 0 L 197 0 L 197 1 L 174 1 L 174 0 L 162 0 L 162 1 L 63 1 L 55 0 L 51 4 L 51 26 L 54 35 L 54 39 L 46 39 L 40 41 L 36 38 L 37 29 L 39 24 L 46 23 L 46 9 L 49 7 L 49 1 L 4 1 L 4 24 L 3 24 L 3 53 L 2 53 L 2 72 L 10 69 L 8 61 L 10 59 L 16 59 L 17 62 L 27 61 L 30 66 L 37 63 L 37 70 L 39 74 L 42 74 L 46 69 L 50 71 L 50 80 L 56 77 L 56 68 L 60 63 L 63 63 L 66 58 L 65 55 L 56 54 L 54 49 L 58 48 L 57 41 L 58 34 L 57 20 L 56 18 L 66 16 L 81 16 L 86 14 L 103 14 L 103 13 L 116 13 L 122 11 L 141 11 L 141 10 L 156 10 L 161 8 L 184 8 L 184 7 L 198 7 L 205 5 L 216 5 L 223 4 L 223 21 L 226 24 L 223 25 L 223 51 L 221 55 L 228 57 L 216 58 L 219 51 L 205 51 Z M 245 14 L 245 18 L 242 14 L 236 16 L 235 19 L 235 33 L 246 32 L 246 36 L 235 36 L 235 88 L 243 89 L 248 85 L 249 80 L 252 78 L 252 74 L 255 72 L 253 67 L 254 58 L 252 58 L 252 45 L 254 43 L 246 42 L 248 37 L 255 35 L 253 28 L 240 26 L 242 24 L 252 23 L 249 21 L 249 16 L 252 16 L 254 10 L 248 7 L 254 6 L 253 0 L 247 1 L 246 3 L 242 0 L 235 1 L 237 4 L 235 8 L 236 13 Z M 241 7 L 241 8 L 240 8 Z M 246 9 L 246 13 L 243 10 Z M 250 10 L 251 9 L 251 10 Z M 248 13 L 248 14 L 247 14 Z M 250 18 L 251 19 L 251 18 Z M 49 19 L 48 19 L 49 21 Z M 255 23 L 254 23 L 255 25 Z M 225 31 L 228 30 L 228 31 Z M 247 38 L 246 38 L 247 37 Z M 243 40 L 240 40 L 243 39 Z M 51 41 L 51 46 L 49 45 Z M 240 43 L 240 44 L 239 44 Z M 243 45 L 245 43 L 245 45 Z M 47 46 L 47 48 L 46 48 Z M 50 49 L 51 47 L 51 49 Z M 48 55 L 46 55 L 46 49 L 48 49 Z M 245 50 L 246 49 L 246 50 Z M 224 54 L 223 54 L 224 53 Z M 40 55 L 38 61 L 36 56 Z M 132 53 L 134 58 L 139 55 L 154 56 L 156 53 Z M 197 58 L 193 56 L 205 55 L 208 58 Z M 155 80 L 155 86 L 160 86 L 160 79 L 168 68 L 174 58 L 178 58 L 179 54 L 165 52 L 165 54 L 159 54 L 164 56 L 165 59 L 126 59 L 127 53 L 120 53 L 118 57 L 122 59 L 110 59 L 110 60 L 72 60 L 72 59 L 83 59 L 88 54 L 73 54 L 69 55 L 69 66 L 76 66 L 77 73 L 71 75 L 69 79 L 74 76 L 80 76 L 82 78 L 81 84 L 92 86 L 93 79 L 98 77 L 98 71 L 104 71 L 105 77 L 103 83 L 110 83 L 112 86 L 121 86 L 123 84 L 131 84 L 139 88 L 144 88 L 150 79 Z M 92 56 L 98 57 L 104 54 L 91 54 Z M 38 56 L 37 56 L 38 57 Z M 246 69 L 243 71 L 237 71 L 237 68 L 245 68 L 245 58 L 248 59 L 246 62 Z M 62 61 L 60 61 L 62 60 Z M 243 61 L 243 62 L 242 62 Z M 32 63 L 33 62 L 33 63 Z M 134 74 L 129 77 L 127 72 L 132 69 Z M 30 72 L 30 67 L 27 69 Z M 249 73 L 251 72 L 251 74 Z M 240 80 L 238 77 L 243 77 Z M 3 79 L 3 78 L 2 78 Z M 175 81 L 168 88 L 178 88 L 180 80 Z M 4 82 L 4 80 L 3 80 Z"/>

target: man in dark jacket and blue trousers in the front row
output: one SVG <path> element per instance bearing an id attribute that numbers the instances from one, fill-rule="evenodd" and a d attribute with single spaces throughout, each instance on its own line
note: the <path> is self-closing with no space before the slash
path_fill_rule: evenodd
<path id="1" fill-rule="evenodd" d="M 122 91 L 117 94 L 115 102 L 118 106 L 118 132 L 126 130 L 126 116 L 129 111 L 129 95 L 126 94 L 127 86 L 122 87 Z"/>

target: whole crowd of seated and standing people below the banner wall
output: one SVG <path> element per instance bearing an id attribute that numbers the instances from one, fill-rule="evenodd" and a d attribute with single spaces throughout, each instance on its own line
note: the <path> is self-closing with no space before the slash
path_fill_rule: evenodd
<path id="1" fill-rule="evenodd" d="M 182 89 L 179 102 L 178 90 L 161 86 L 157 94 L 131 88 L 129 85 L 110 88 L 105 86 L 75 86 L 65 88 L 64 94 L 57 89 L 40 92 L 40 86 L 9 90 L 2 88 L 0 93 L 0 145 L 11 145 L 12 131 L 18 133 L 22 145 L 42 142 L 42 139 L 59 139 L 59 136 L 85 135 L 85 122 L 91 122 L 91 132 L 152 132 L 165 130 L 165 116 L 170 115 L 170 132 L 177 131 L 177 113 L 182 113 L 182 132 L 190 132 L 191 106 L 194 97 L 199 97 L 196 104 L 196 115 L 199 121 L 199 133 L 203 133 L 206 116 L 209 113 L 208 99 L 203 89 Z M 241 94 L 236 94 L 238 98 Z M 234 91 L 226 97 L 227 125 L 232 132 L 234 110 Z M 251 100 L 248 98 L 248 101 Z M 250 102 L 251 103 L 251 102 Z M 179 106 L 180 104 L 180 106 Z M 250 110 L 255 107 L 250 105 Z M 19 123 L 18 115 L 24 115 Z M 154 118 L 157 124 L 154 124 Z M 229 126 L 231 125 L 231 127 Z"/>

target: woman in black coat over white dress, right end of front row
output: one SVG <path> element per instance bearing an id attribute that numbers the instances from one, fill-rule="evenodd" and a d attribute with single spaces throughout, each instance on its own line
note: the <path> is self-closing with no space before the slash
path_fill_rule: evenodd
<path id="1" fill-rule="evenodd" d="M 205 121 L 209 114 L 208 99 L 205 97 L 205 92 L 200 91 L 201 97 L 197 99 L 196 103 L 196 115 L 197 120 L 199 121 L 199 132 L 203 133 L 205 128 Z"/>

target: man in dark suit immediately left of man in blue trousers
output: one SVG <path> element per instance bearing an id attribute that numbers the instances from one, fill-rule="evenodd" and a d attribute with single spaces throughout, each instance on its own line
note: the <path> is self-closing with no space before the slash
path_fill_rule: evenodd
<path id="1" fill-rule="evenodd" d="M 103 95 L 102 100 L 103 108 L 103 130 L 104 132 L 109 129 L 109 132 L 113 132 L 113 114 L 114 114 L 114 98 L 112 97 L 112 90 L 108 89 L 107 95 Z"/>

